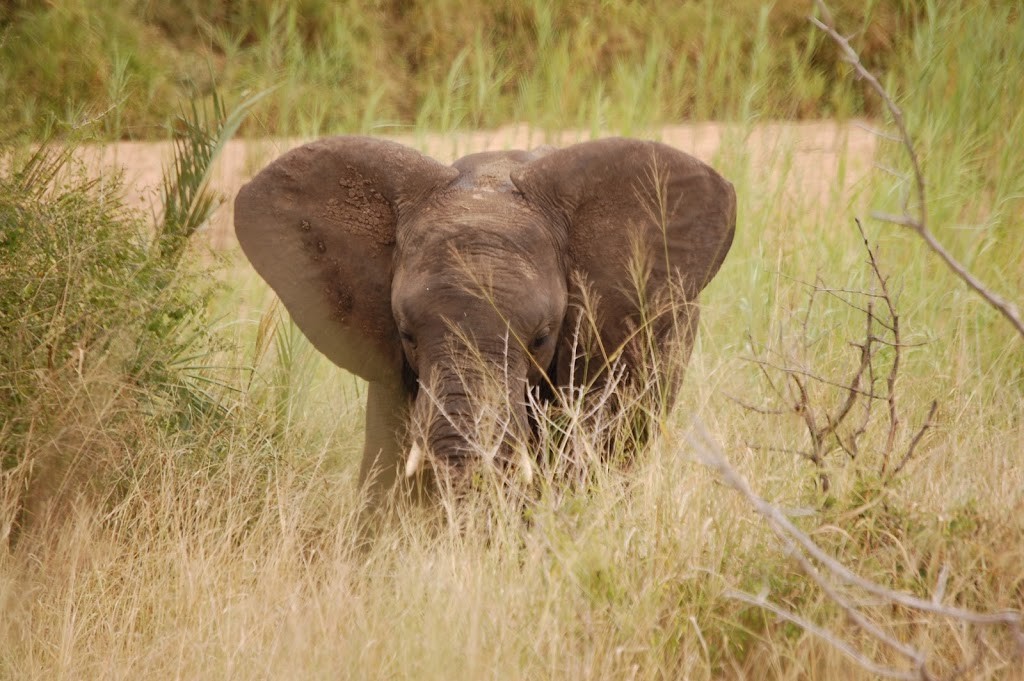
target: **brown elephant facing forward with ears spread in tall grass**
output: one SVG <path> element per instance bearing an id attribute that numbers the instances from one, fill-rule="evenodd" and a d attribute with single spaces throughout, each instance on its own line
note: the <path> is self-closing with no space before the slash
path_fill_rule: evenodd
<path id="1" fill-rule="evenodd" d="M 671 405 L 735 222 L 712 168 L 622 138 L 445 166 L 333 137 L 284 155 L 234 202 L 242 249 L 292 318 L 369 381 L 360 484 L 376 493 L 424 460 L 507 463 L 531 437 L 530 391 L 653 375 L 655 407 Z M 484 423 L 498 424 L 487 451 Z"/>

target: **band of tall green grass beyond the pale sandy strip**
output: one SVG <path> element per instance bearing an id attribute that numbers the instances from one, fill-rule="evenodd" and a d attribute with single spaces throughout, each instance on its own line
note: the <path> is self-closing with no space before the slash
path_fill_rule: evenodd
<path id="1" fill-rule="evenodd" d="M 874 67 L 907 55 L 916 3 L 836 2 Z M 0 135 L 100 118 L 161 138 L 178 101 L 274 88 L 250 136 L 529 121 L 639 130 L 680 119 L 878 111 L 803 0 L 381 3 L 58 0 L 0 9 Z M 66 48 L 74 45 L 73 50 Z"/>

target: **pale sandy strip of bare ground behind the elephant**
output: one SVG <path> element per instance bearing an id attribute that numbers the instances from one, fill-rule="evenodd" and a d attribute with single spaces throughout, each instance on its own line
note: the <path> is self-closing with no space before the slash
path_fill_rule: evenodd
<path id="1" fill-rule="evenodd" d="M 755 126 L 695 123 L 662 128 L 662 141 L 712 163 L 721 169 L 722 158 L 740 157 L 748 162 L 749 179 L 770 179 L 784 173 L 786 193 L 828 196 L 842 180 L 841 190 L 854 186 L 871 169 L 878 136 L 860 121 L 766 123 Z M 589 131 L 545 134 L 524 125 L 492 131 L 446 135 L 381 135 L 399 141 L 433 158 L 451 163 L 455 159 L 490 150 L 532 148 L 541 144 L 562 146 L 591 138 Z M 648 136 L 648 135 L 638 135 Z M 237 139 L 223 150 L 212 178 L 223 200 L 206 231 L 214 248 L 232 248 L 234 236 L 231 203 L 239 188 L 261 167 L 304 139 Z M 124 169 L 130 205 L 148 214 L 159 213 L 163 167 L 171 158 L 166 142 L 121 142 L 87 146 L 81 151 L 93 170 Z M 728 176 L 728 172 L 725 174 Z"/>

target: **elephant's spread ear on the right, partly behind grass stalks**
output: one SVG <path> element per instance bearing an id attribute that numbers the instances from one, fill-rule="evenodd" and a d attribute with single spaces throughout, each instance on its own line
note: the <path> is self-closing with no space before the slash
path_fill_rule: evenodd
<path id="1" fill-rule="evenodd" d="M 583 304 L 582 284 L 597 301 L 605 356 L 617 354 L 646 317 L 644 306 L 670 284 L 681 284 L 684 302 L 694 301 L 732 244 L 732 184 L 666 144 L 584 142 L 522 166 L 512 181 L 565 225 L 566 259 L 579 275 L 569 282 L 570 298 Z"/>

